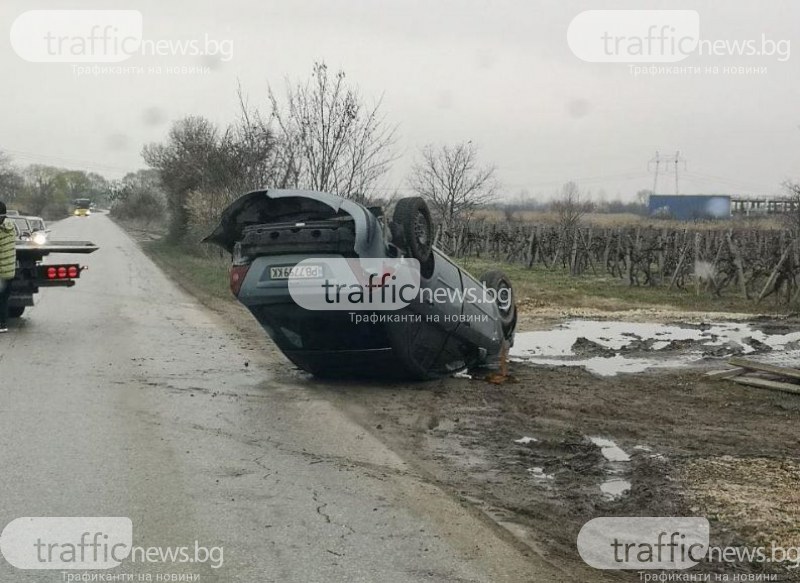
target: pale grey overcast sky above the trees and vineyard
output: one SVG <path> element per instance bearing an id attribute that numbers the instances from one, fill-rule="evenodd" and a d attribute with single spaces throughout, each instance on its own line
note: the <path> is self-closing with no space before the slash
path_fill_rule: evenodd
<path id="1" fill-rule="evenodd" d="M 26 10 L 63 3 L 4 0 L 9 31 Z M 143 166 L 143 144 L 172 120 L 237 114 L 236 86 L 251 104 L 268 84 L 307 78 L 315 60 L 342 68 L 368 99 L 383 95 L 399 125 L 400 156 L 386 188 L 404 188 L 420 147 L 472 140 L 495 164 L 504 193 L 549 197 L 575 180 L 595 196 L 632 199 L 652 188 L 648 160 L 680 150 L 683 193 L 774 193 L 800 179 L 800 3 L 554 2 L 544 0 L 171 0 L 70 2 L 135 9 L 145 39 L 233 43 L 233 57 L 136 55 L 144 73 L 78 76 L 67 63 L 32 63 L 0 43 L 0 149 L 41 162 L 119 177 Z M 764 67 L 758 74 L 639 76 L 621 63 L 588 63 L 567 44 L 587 9 L 681 8 L 700 14 L 709 39 L 785 39 L 775 57 L 689 56 L 680 65 Z M 760 42 L 760 40 L 759 40 Z M 207 74 L 148 73 L 152 66 L 211 64 Z M 674 165 L 672 166 L 674 167 Z M 674 192 L 674 175 L 659 192 Z M 663 169 L 663 166 L 662 166 Z M 652 170 L 652 167 L 650 168 Z"/>

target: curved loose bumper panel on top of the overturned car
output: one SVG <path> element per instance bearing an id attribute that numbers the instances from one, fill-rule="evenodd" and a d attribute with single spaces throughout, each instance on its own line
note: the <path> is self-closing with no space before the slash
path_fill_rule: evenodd
<path id="1" fill-rule="evenodd" d="M 375 216 L 352 200 L 312 190 L 269 189 L 245 194 L 222 211 L 219 224 L 203 242 L 219 245 L 230 253 L 244 228 L 250 225 L 300 220 L 299 217 L 325 219 L 342 212 L 355 220 L 355 251 L 361 255 L 380 239 L 376 237 L 379 225 Z"/>

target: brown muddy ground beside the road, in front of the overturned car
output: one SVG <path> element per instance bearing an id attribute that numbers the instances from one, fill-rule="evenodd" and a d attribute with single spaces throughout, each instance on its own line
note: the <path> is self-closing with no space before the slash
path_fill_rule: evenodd
<path id="1" fill-rule="evenodd" d="M 797 330 L 792 321 L 758 325 Z M 569 571 L 581 563 L 578 531 L 598 516 L 707 516 L 720 546 L 800 542 L 800 397 L 704 378 L 721 367 L 601 378 L 512 363 L 503 385 L 303 382 Z M 613 440 L 630 461 L 607 460 L 590 437 Z"/>

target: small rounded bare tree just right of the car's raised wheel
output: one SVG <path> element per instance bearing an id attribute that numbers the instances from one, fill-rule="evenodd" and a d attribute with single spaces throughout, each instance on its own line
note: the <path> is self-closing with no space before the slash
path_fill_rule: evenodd
<path id="1" fill-rule="evenodd" d="M 426 146 L 411 169 L 411 189 L 428 200 L 445 231 L 456 221 L 488 204 L 497 195 L 494 166 L 481 166 L 472 142 L 453 146 Z"/>

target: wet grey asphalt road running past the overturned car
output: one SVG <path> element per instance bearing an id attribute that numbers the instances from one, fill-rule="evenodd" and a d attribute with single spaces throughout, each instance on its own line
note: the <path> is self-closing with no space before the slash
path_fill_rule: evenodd
<path id="1" fill-rule="evenodd" d="M 126 516 L 134 545 L 221 547 L 224 563 L 108 573 L 200 581 L 557 581 L 302 385 L 281 384 L 106 216 L 72 289 L 0 337 L 0 526 Z M 0 581 L 62 581 L 0 561 Z"/>

